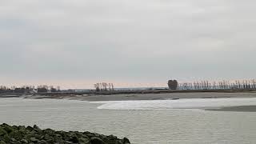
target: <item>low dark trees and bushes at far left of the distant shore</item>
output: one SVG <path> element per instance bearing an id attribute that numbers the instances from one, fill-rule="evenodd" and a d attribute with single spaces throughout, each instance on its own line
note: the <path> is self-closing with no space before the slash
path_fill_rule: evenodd
<path id="1" fill-rule="evenodd" d="M 33 94 L 33 93 L 47 93 L 47 92 L 58 92 L 60 91 L 60 86 L 0 86 L 0 93 L 18 93 L 18 94 Z"/>

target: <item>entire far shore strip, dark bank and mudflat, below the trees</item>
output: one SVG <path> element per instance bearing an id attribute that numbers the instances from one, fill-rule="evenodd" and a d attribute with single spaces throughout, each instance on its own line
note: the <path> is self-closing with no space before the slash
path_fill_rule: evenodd
<path id="1" fill-rule="evenodd" d="M 70 93 L 0 94 L 0 98 L 55 98 L 82 101 L 166 100 L 180 98 L 256 98 L 256 90 L 116 90 Z"/>

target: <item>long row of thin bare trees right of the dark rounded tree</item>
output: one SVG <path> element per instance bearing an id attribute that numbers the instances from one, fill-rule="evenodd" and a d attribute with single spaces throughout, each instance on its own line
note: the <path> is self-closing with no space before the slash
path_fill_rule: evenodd
<path id="1" fill-rule="evenodd" d="M 256 89 L 256 79 L 235 81 L 200 81 L 178 83 L 178 90 L 236 90 Z"/>

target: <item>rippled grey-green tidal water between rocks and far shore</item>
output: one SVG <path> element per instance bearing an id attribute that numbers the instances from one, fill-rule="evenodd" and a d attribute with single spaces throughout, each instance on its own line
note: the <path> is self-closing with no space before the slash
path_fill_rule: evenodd
<path id="1" fill-rule="evenodd" d="M 0 123 L 127 137 L 133 144 L 256 143 L 256 113 L 207 111 L 256 106 L 256 98 L 85 102 L 0 98 Z"/>

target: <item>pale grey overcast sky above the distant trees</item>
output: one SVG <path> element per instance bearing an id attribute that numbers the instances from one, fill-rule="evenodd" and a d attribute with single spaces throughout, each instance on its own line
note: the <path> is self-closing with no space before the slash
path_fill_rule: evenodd
<path id="1" fill-rule="evenodd" d="M 254 0 L 0 0 L 0 85 L 255 78 Z"/>

